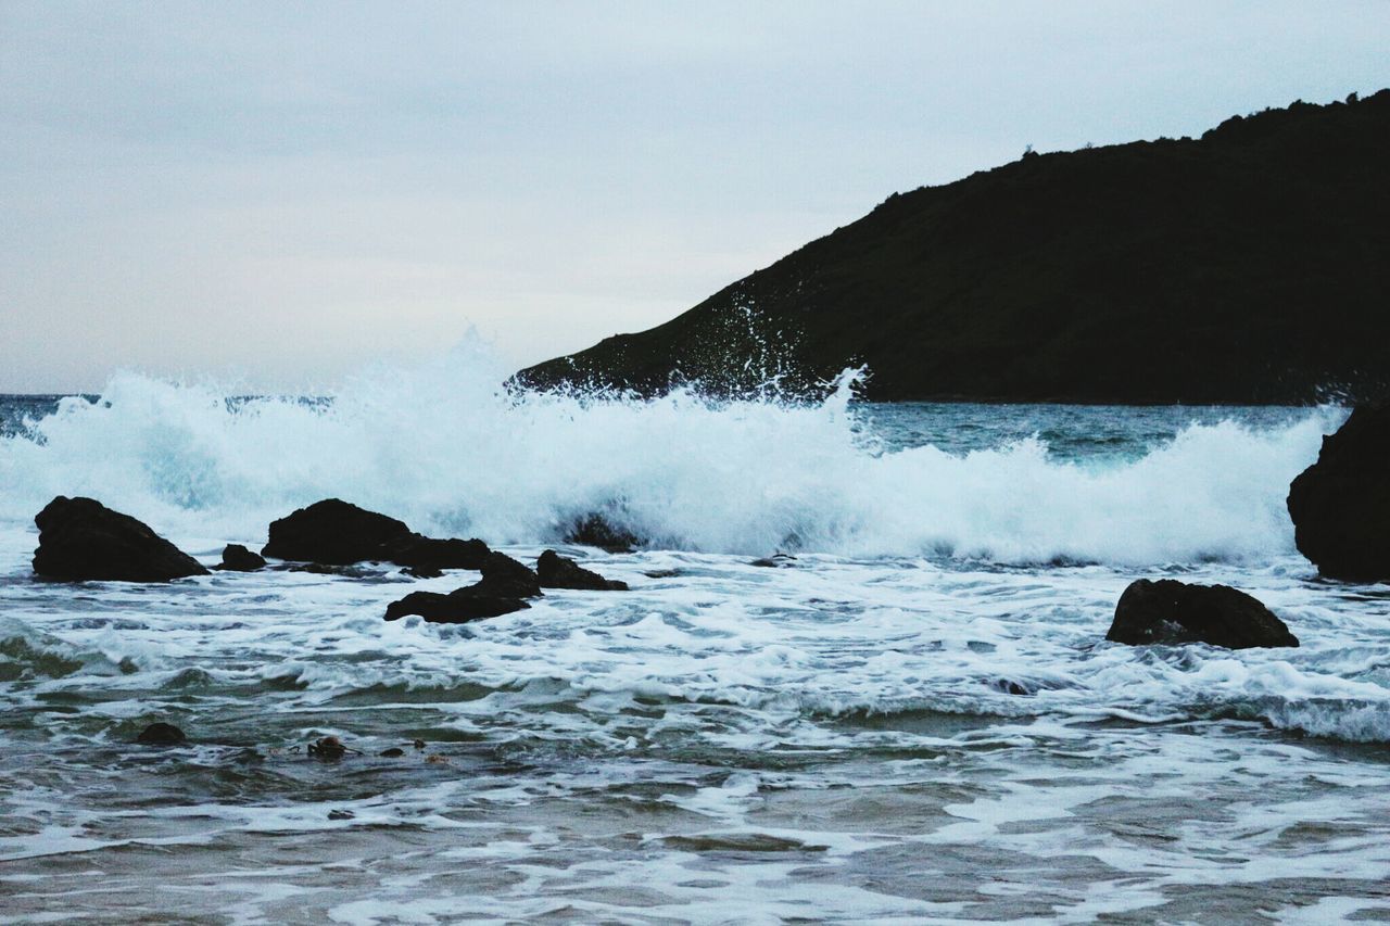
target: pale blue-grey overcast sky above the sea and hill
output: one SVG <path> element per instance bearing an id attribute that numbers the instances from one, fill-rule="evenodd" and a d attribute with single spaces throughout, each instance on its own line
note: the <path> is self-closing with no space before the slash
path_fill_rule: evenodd
<path id="1" fill-rule="evenodd" d="M 895 190 L 1390 86 L 1390 0 L 0 0 L 0 392 L 660 324 Z"/>

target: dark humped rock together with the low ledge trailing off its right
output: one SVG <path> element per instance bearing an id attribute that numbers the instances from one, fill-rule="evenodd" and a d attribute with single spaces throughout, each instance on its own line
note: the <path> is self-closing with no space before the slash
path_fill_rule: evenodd
<path id="1" fill-rule="evenodd" d="M 478 569 L 488 545 L 423 537 L 404 521 L 329 498 L 272 521 L 261 553 L 325 566 L 373 560 L 417 569 Z"/>

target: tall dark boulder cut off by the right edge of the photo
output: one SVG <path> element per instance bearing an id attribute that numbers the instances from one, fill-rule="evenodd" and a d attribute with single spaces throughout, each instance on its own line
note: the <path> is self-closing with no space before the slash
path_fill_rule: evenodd
<path id="1" fill-rule="evenodd" d="M 1390 405 L 1352 410 L 1289 487 L 1294 542 L 1323 576 L 1390 578 Z"/>

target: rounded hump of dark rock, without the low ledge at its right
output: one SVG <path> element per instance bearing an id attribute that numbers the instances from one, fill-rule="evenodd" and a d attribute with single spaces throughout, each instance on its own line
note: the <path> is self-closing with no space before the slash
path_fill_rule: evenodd
<path id="1" fill-rule="evenodd" d="M 329 498 L 271 521 L 261 555 L 346 566 L 382 559 L 382 546 L 410 535 L 404 521 Z"/>

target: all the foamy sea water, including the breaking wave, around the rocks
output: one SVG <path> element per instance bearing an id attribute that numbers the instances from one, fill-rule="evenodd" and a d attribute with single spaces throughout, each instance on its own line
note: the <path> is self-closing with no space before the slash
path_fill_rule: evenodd
<path id="1" fill-rule="evenodd" d="M 1284 510 L 1343 410 L 495 382 L 0 398 L 0 919 L 1390 920 L 1390 587 Z M 35 581 L 58 494 L 208 564 L 339 496 L 632 590 L 435 626 L 382 612 L 475 574 Z M 566 545 L 595 510 L 642 548 Z M 1138 577 L 1302 647 L 1108 644 Z"/>

